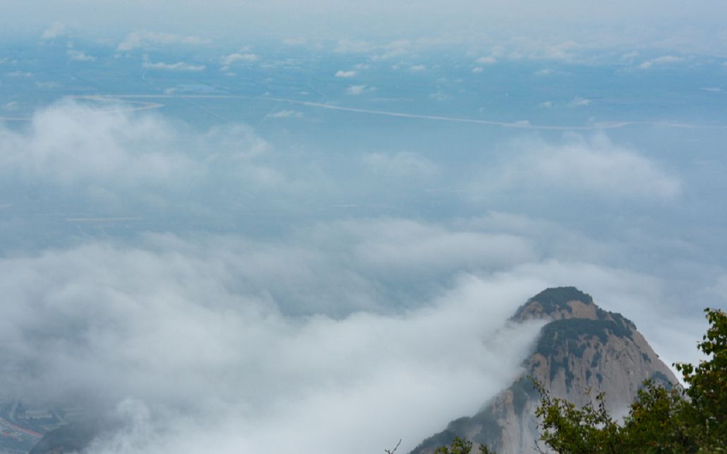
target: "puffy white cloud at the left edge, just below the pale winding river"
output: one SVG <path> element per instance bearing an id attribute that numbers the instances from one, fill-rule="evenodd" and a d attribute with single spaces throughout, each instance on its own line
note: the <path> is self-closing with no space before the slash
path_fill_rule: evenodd
<path id="1" fill-rule="evenodd" d="M 140 107 L 62 102 L 34 113 L 26 131 L 0 127 L 2 179 L 72 191 L 88 206 L 103 196 L 142 207 L 196 203 L 180 191 L 212 180 L 229 191 L 273 190 L 286 181 L 281 169 L 257 162 L 270 145 L 248 126 L 195 132 L 134 108 Z"/>

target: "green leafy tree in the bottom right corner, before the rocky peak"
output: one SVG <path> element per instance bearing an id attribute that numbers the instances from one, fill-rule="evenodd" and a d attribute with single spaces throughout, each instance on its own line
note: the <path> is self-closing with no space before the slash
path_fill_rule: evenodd
<path id="1" fill-rule="evenodd" d="M 705 312 L 710 328 L 698 347 L 707 360 L 675 365 L 688 387 L 645 381 L 621 425 L 608 414 L 603 393 L 595 405 L 577 408 L 536 382 L 542 441 L 558 453 L 727 452 L 727 315 Z"/>

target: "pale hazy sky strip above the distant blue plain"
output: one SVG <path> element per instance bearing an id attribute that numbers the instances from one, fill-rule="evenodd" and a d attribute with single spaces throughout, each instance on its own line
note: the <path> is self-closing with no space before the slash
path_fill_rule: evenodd
<path id="1" fill-rule="evenodd" d="M 87 36 L 153 30 L 218 38 L 576 40 L 599 46 L 685 46 L 724 54 L 723 2 L 574 1 L 4 1 L 12 33 L 60 22 Z M 720 38 L 721 37 L 721 38 Z"/>

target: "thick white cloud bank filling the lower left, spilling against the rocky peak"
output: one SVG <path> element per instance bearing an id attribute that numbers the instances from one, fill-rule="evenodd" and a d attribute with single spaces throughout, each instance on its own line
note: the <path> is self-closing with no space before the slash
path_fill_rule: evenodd
<path id="1" fill-rule="evenodd" d="M 214 437 L 218 452 L 313 453 L 323 444 L 366 453 L 395 437 L 413 447 L 518 370 L 537 327 L 505 328 L 505 318 L 524 288 L 462 275 L 417 309 L 350 312 L 357 293 L 387 304 L 367 272 L 391 275 L 382 266 L 406 269 L 422 257 L 382 245 L 371 252 L 388 247 L 397 264 L 364 254 L 337 270 L 313 235 L 307 247 L 153 235 L 136 247 L 89 243 L 3 259 L 0 288 L 13 301 L 0 331 L 4 389 L 51 401 L 81 395 L 106 410 L 132 405 L 129 423 L 148 418 L 143 433 L 121 432 L 128 448 L 102 439 L 92 452 L 193 453 Z M 300 311 L 313 300 L 308 309 L 321 315 L 286 315 L 286 304 Z M 349 315 L 323 315 L 324 303 Z"/>

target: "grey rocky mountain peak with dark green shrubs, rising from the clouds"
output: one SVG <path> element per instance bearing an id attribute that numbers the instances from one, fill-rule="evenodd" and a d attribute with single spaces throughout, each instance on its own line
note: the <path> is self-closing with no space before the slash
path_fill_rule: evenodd
<path id="1" fill-rule="evenodd" d="M 537 378 L 553 397 L 585 405 L 597 392 L 606 393 L 612 415 L 625 415 L 646 378 L 676 383 L 677 379 L 648 345 L 636 326 L 622 315 L 598 307 L 574 287 L 549 288 L 523 304 L 512 320 L 542 319 L 526 372 L 472 417 L 449 423 L 412 453 L 433 453 L 454 437 L 484 444 L 497 453 L 537 452 L 535 409 L 539 395 L 528 376 Z M 590 395 L 587 394 L 591 390 Z M 539 446 L 545 450 L 545 446 Z"/>

